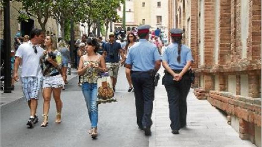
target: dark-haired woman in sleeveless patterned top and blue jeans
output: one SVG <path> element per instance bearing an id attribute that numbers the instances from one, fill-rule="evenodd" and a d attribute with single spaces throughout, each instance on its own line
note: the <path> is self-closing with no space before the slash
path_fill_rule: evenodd
<path id="1" fill-rule="evenodd" d="M 97 79 L 100 72 L 105 72 L 105 58 L 99 55 L 99 44 L 95 38 L 88 39 L 85 50 L 87 54 L 81 56 L 78 67 L 78 75 L 82 75 L 82 92 L 85 97 L 91 129 L 88 131 L 93 138 L 97 136 Z"/>

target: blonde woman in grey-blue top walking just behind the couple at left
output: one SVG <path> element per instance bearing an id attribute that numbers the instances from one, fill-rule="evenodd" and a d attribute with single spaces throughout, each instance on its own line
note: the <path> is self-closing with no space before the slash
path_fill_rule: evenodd
<path id="1" fill-rule="evenodd" d="M 67 84 L 68 81 L 67 81 L 66 72 L 67 72 L 68 64 L 71 64 L 71 61 L 70 61 L 69 49 L 66 45 L 66 42 L 63 39 L 59 41 L 58 49 L 59 49 L 61 56 L 62 56 L 61 74 L 62 74 L 64 83 Z M 65 89 L 65 88 L 63 87 L 62 89 Z"/>

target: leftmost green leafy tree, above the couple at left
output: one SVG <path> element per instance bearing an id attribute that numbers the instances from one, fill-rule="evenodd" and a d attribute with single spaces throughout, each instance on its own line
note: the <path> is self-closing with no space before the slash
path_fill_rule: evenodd
<path id="1" fill-rule="evenodd" d="M 25 10 L 27 15 L 33 15 L 38 20 L 43 31 L 46 31 L 46 23 L 50 17 L 50 8 L 52 0 L 17 0 L 22 3 L 22 10 Z M 32 13 L 32 14 L 31 14 Z"/>

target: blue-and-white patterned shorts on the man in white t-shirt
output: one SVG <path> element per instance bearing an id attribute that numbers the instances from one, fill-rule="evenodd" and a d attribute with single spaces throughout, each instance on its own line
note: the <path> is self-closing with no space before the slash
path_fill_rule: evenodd
<path id="1" fill-rule="evenodd" d="M 38 99 L 39 91 L 42 87 L 43 77 L 23 77 L 21 78 L 24 97 L 27 101 Z"/>

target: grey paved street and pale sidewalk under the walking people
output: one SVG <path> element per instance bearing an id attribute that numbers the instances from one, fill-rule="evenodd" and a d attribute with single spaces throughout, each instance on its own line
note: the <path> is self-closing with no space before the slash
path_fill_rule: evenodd
<path id="1" fill-rule="evenodd" d="M 161 69 L 160 73 L 163 73 Z M 127 93 L 124 68 L 120 68 L 117 90 L 118 102 L 99 105 L 99 136 L 96 140 L 87 134 L 90 126 L 88 114 L 77 77 L 69 81 L 62 92 L 62 123 L 54 124 L 55 103 L 52 99 L 49 126 L 26 128 L 29 109 L 24 99 L 1 106 L 1 147 L 253 147 L 250 141 L 241 140 L 227 124 L 226 117 L 206 100 L 198 100 L 192 91 L 188 95 L 188 125 L 173 135 L 169 127 L 169 109 L 166 91 L 161 80 L 156 88 L 152 136 L 145 137 L 137 128 L 133 93 Z M 40 97 L 38 114 L 42 113 Z"/>

